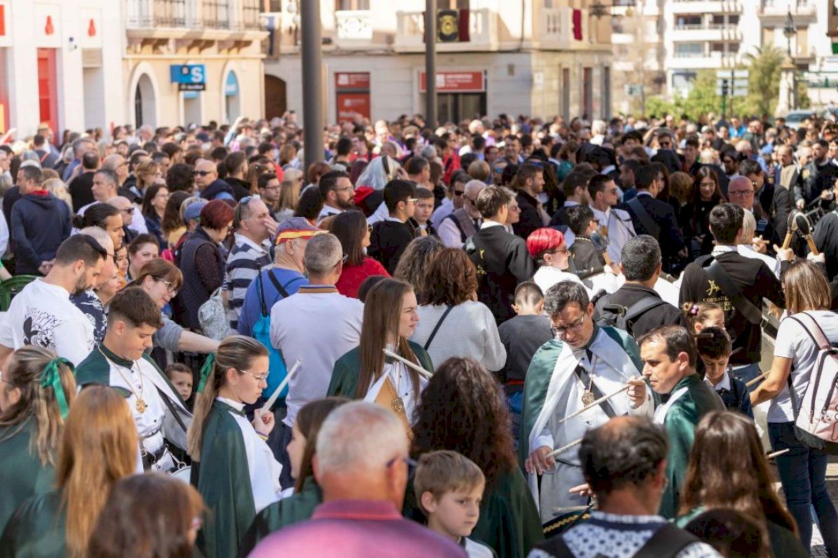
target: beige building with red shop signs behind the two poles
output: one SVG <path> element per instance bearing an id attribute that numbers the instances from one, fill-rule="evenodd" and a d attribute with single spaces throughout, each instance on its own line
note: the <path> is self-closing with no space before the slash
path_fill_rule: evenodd
<path id="1" fill-rule="evenodd" d="M 304 0 L 309 1 L 309 0 Z M 424 0 L 312 0 L 323 24 L 328 122 L 424 112 Z M 266 117 L 303 109 L 300 0 L 270 0 Z M 475 115 L 549 118 L 611 113 L 610 14 L 591 0 L 437 0 L 460 38 L 437 43 L 441 121 Z"/>

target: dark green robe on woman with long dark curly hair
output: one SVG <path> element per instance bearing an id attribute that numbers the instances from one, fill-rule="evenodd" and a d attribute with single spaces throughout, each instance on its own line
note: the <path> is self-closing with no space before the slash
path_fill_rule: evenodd
<path id="1" fill-rule="evenodd" d="M 407 484 L 404 515 L 427 524 L 412 481 Z M 520 469 L 502 474 L 486 489 L 480 504 L 480 519 L 468 538 L 489 546 L 499 558 L 525 558 L 534 545 L 544 540 L 535 500 Z"/>

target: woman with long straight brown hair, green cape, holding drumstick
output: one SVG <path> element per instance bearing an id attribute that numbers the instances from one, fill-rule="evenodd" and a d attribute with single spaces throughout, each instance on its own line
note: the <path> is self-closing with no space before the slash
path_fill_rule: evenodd
<path id="1" fill-rule="evenodd" d="M 364 399 L 391 409 L 407 432 L 427 380 L 404 363 L 386 357 L 384 350 L 433 371 L 427 351 L 407 340 L 419 321 L 416 306 L 416 294 L 404 281 L 383 279 L 370 289 L 360 345 L 334 363 L 328 386 L 328 395 Z"/>

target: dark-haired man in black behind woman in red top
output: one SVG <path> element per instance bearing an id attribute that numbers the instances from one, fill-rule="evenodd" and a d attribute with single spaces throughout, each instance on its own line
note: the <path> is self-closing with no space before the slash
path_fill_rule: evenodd
<path id="1" fill-rule="evenodd" d="M 384 187 L 384 202 L 390 213 L 372 226 L 367 253 L 385 267 L 387 273 L 396 271 L 407 245 L 416 238 L 416 230 L 408 221 L 416 213 L 416 186 L 406 180 L 391 180 Z"/>

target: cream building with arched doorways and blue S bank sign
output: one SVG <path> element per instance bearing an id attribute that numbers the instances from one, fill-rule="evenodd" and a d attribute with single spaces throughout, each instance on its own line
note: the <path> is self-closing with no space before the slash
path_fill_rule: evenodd
<path id="1" fill-rule="evenodd" d="M 264 106 L 261 0 L 123 0 L 125 121 L 232 123 Z M 178 72 L 203 78 L 183 90 Z"/>

